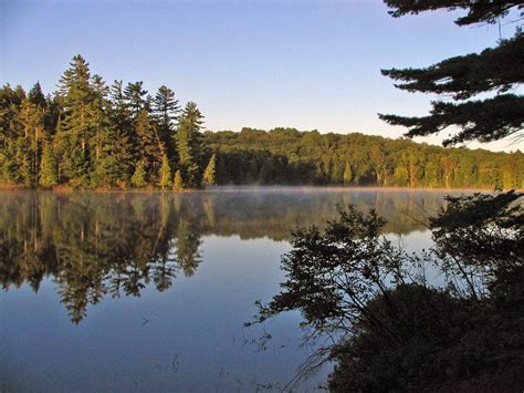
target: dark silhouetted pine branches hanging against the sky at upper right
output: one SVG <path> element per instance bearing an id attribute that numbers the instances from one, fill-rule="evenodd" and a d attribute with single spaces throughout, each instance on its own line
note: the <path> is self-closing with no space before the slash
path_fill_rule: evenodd
<path id="1" fill-rule="evenodd" d="M 437 9 L 464 9 L 465 17 L 455 23 L 500 22 L 511 9 L 522 8 L 522 1 L 415 1 L 385 0 L 394 17 Z M 452 145 L 465 141 L 490 142 L 509 135 L 522 135 L 524 124 L 524 96 L 517 92 L 524 82 L 522 59 L 524 33 L 517 29 L 509 40 L 501 40 L 494 49 L 479 54 L 454 56 L 425 69 L 382 70 L 382 74 L 399 83 L 397 87 L 408 92 L 423 92 L 452 96 L 455 103 L 436 101 L 428 116 L 406 117 L 379 115 L 392 125 L 409 128 L 409 137 L 439 133 L 449 126 L 458 126 L 459 133 L 443 142 Z M 474 72 L 471 72 L 474 70 Z M 470 99 L 496 93 L 483 100 Z"/>

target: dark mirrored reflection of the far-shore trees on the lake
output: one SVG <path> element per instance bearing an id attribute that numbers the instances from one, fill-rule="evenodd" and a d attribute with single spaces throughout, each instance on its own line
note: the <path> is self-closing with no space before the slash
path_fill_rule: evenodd
<path id="1" fill-rule="evenodd" d="M 56 285 L 73 323 L 103 297 L 165 291 L 201 263 L 207 235 L 285 240 L 297 226 L 323 226 L 336 204 L 375 208 L 387 232 L 422 229 L 438 192 L 220 188 L 187 194 L 19 192 L 0 194 L 3 289 Z"/>

